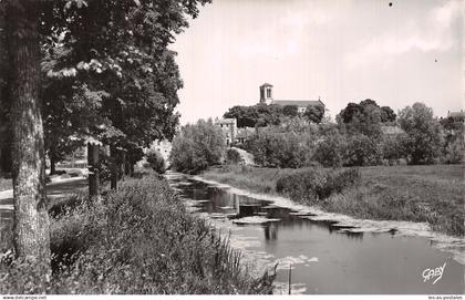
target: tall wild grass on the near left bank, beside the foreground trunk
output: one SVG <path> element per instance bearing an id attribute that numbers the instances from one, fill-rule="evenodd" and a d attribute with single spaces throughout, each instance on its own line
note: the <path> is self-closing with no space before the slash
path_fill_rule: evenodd
<path id="1" fill-rule="evenodd" d="M 35 285 L 35 266 L 0 269 L 2 293 L 270 293 L 273 276 L 252 278 L 166 180 L 128 179 L 92 201 L 75 196 L 51 220 L 53 275 Z M 40 281 L 39 279 L 37 279 Z M 32 283 L 31 283 L 32 281 Z M 43 282 L 43 280 L 42 280 Z"/>

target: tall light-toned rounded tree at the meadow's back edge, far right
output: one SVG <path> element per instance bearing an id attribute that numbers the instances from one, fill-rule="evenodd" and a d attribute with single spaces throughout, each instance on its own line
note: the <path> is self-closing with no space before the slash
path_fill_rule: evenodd
<path id="1" fill-rule="evenodd" d="M 433 110 L 418 102 L 406 106 L 399 112 L 399 124 L 406 133 L 402 145 L 409 163 L 431 164 L 441 145 L 440 124 L 433 116 Z"/>

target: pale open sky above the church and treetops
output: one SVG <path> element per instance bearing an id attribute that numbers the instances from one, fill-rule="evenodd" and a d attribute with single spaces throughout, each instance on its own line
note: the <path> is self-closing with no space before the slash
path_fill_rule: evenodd
<path id="1" fill-rule="evenodd" d="M 392 3 L 392 6 L 390 6 Z M 464 1 L 213 0 L 170 49 L 184 81 L 180 123 L 277 100 L 318 100 L 335 115 L 365 99 L 436 116 L 464 108 Z"/>

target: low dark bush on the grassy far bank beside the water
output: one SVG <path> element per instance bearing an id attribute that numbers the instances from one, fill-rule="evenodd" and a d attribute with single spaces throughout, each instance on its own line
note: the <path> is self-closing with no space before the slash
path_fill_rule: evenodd
<path id="1" fill-rule="evenodd" d="M 341 193 L 360 179 L 356 168 L 308 168 L 281 176 L 276 183 L 278 193 L 288 194 L 292 200 L 318 205 L 331 194 Z"/>

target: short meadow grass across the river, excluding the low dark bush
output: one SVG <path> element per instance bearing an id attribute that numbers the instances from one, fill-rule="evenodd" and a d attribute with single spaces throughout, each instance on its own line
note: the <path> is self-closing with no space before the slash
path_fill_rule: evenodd
<path id="1" fill-rule="evenodd" d="M 296 169 L 225 166 L 203 177 L 258 193 L 277 194 L 276 183 Z M 361 180 L 318 204 L 327 211 L 359 218 L 427 221 L 433 230 L 464 236 L 464 166 L 361 167 Z"/>

